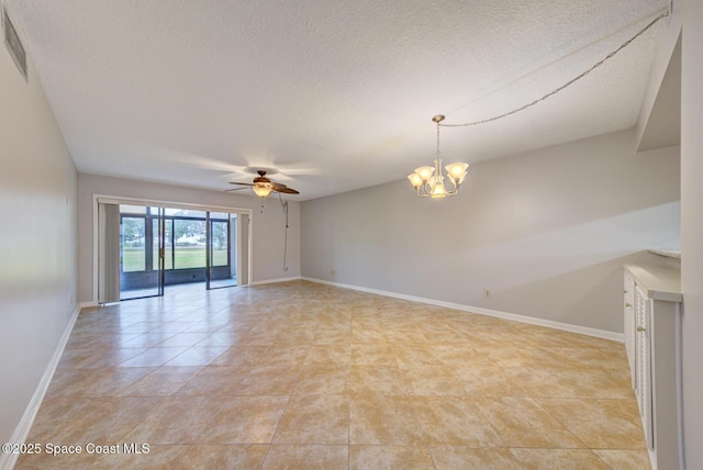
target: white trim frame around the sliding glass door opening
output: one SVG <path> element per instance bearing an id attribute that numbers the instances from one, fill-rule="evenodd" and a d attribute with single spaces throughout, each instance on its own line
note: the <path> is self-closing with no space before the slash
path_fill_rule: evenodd
<path id="1" fill-rule="evenodd" d="M 194 211 L 205 211 L 205 212 L 228 212 L 237 215 L 246 215 L 247 220 L 252 220 L 252 209 L 244 208 L 227 208 L 222 205 L 209 205 L 209 204 L 197 204 L 197 203 L 186 203 L 186 202 L 175 202 L 175 201 L 161 201 L 161 200 L 153 200 L 153 199 L 142 199 L 142 198 L 125 198 L 121 195 L 110 195 L 110 194 L 93 194 L 92 195 L 92 304 L 98 305 L 98 286 L 99 286 L 99 247 L 100 240 L 98 236 L 98 203 L 104 202 L 110 204 L 129 204 L 129 205 L 146 205 L 146 206 L 158 206 L 158 208 L 168 208 L 168 209 L 183 209 L 183 210 L 194 210 Z M 209 215 L 208 215 L 209 219 Z M 245 282 L 239 282 L 239 276 L 237 275 L 237 286 L 249 286 L 250 280 L 253 279 L 253 260 L 252 254 L 254 253 L 253 248 L 253 227 L 252 224 L 247 224 L 247 247 L 246 247 L 246 278 Z M 237 258 L 241 259 L 241 254 L 237 253 Z M 241 262 L 238 262 L 239 265 Z M 238 267 L 237 267 L 238 270 Z M 161 272 L 164 272 L 161 270 Z"/>

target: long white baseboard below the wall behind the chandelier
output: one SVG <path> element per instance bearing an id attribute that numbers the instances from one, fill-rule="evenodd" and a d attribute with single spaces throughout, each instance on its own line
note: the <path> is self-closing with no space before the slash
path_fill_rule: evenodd
<path id="1" fill-rule="evenodd" d="M 498 318 L 511 320 L 513 322 L 528 323 L 531 325 L 546 326 L 548 328 L 561 329 L 563 332 L 578 333 L 581 335 L 593 336 L 596 338 L 610 339 L 613 342 L 625 343 L 625 335 L 622 333 L 609 332 L 605 329 L 589 328 L 587 326 L 571 325 L 568 323 L 555 322 L 551 320 L 535 318 L 533 316 L 518 315 L 516 313 L 501 312 L 499 310 L 482 309 L 480 306 L 462 305 L 459 303 L 444 302 L 440 300 L 425 299 L 415 295 L 406 295 L 398 292 L 381 291 L 378 289 L 369 289 L 359 286 L 344 284 L 341 282 L 325 281 L 323 279 L 301 277 L 300 279 L 321 284 L 334 286 L 343 289 L 352 289 L 355 291 L 368 292 L 378 295 L 391 296 L 395 299 L 410 300 L 413 302 L 426 303 L 429 305 L 444 306 L 447 309 L 460 310 L 462 312 L 479 313 L 481 315 L 495 316 Z"/>

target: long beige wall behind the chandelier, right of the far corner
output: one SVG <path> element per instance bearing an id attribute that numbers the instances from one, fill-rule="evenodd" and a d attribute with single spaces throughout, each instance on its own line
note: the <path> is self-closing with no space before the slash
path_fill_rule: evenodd
<path id="1" fill-rule="evenodd" d="M 680 244 L 679 148 L 634 148 L 625 131 L 481 163 L 439 201 L 408 181 L 305 201 L 302 275 L 620 333 L 622 264 Z"/>

